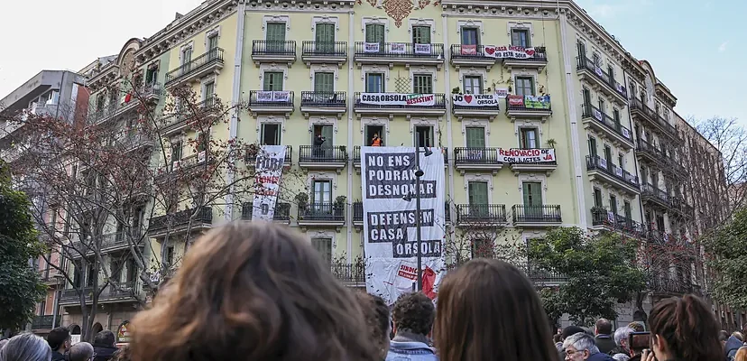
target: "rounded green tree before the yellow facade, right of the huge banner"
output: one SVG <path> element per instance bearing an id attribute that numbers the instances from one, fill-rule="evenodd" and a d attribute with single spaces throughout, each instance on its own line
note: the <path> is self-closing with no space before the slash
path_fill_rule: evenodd
<path id="1" fill-rule="evenodd" d="M 532 264 L 567 276 L 567 282 L 539 292 L 549 315 L 568 313 L 576 324 L 615 319 L 616 302 L 631 301 L 646 287 L 636 267 L 637 244 L 614 233 L 587 236 L 576 227 L 558 228 L 530 243 Z"/>

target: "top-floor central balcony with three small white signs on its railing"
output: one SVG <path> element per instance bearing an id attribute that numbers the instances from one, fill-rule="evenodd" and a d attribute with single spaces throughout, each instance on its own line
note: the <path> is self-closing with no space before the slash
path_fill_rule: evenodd
<path id="1" fill-rule="evenodd" d="M 436 66 L 444 64 L 444 44 L 415 44 L 412 42 L 355 42 L 355 63 L 360 69 L 363 64 L 386 64 L 392 69 L 394 64 Z"/>

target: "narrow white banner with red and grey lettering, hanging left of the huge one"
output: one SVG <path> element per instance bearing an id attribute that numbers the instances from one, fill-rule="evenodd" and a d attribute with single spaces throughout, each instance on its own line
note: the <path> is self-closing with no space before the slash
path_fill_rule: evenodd
<path id="1" fill-rule="evenodd" d="M 254 163 L 254 205 L 252 220 L 271 221 L 280 191 L 285 145 L 263 145 Z"/>

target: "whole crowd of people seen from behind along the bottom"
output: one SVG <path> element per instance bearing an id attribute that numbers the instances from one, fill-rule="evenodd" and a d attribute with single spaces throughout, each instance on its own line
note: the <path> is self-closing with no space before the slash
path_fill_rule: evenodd
<path id="1" fill-rule="evenodd" d="M 412 292 L 390 308 L 337 282 L 291 230 L 241 223 L 198 239 L 127 346 L 108 330 L 70 345 L 58 328 L 0 343 L 0 361 L 747 361 L 742 334 L 720 332 L 695 296 L 657 302 L 647 324 L 599 319 L 553 335 L 530 280 L 484 258 L 450 271 L 435 307 Z"/>

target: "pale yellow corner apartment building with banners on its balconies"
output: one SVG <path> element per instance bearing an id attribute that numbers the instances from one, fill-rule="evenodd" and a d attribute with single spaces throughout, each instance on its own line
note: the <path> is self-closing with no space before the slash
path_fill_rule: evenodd
<path id="1" fill-rule="evenodd" d="M 190 87 L 203 108 L 217 98 L 244 105 L 207 135 L 173 117 L 162 134 L 165 156 L 154 152 L 153 164 L 168 171 L 175 163 L 205 162 L 183 145 L 203 136 L 286 145 L 274 218 L 309 236 L 351 286 L 364 283 L 355 272 L 363 254 L 360 147 L 374 134 L 383 145 L 442 149 L 451 242 L 500 246 L 501 237 L 527 240 L 558 226 L 653 241 L 695 234 L 692 176 L 681 166 L 684 140 L 695 135 L 691 128 L 683 134 L 677 98 L 648 62 L 633 58 L 570 0 L 480 6 L 208 0 L 102 59 L 85 69 L 88 122 L 134 124 L 137 105 L 125 84 L 135 85 L 155 113 L 180 86 Z M 428 106 L 402 101 L 413 94 L 426 95 L 420 100 Z M 326 138 L 320 153 L 312 146 L 318 134 Z M 134 142 L 161 146 L 147 137 Z M 503 163 L 502 150 L 552 156 Z M 253 165 L 250 157 L 237 162 Z M 718 159 L 709 162 L 713 168 Z M 304 207 L 298 199 L 306 199 Z M 194 230 L 196 221 L 201 230 L 250 219 L 251 199 L 246 202 L 184 204 L 180 212 L 198 216 L 172 215 L 177 227 L 165 227 L 166 215 L 136 217 L 129 226 L 147 232 L 152 245 L 145 248 L 155 262 L 166 247 L 171 264 L 189 245 L 181 236 L 187 223 Z M 118 227 L 107 230 L 113 237 L 107 253 L 123 251 Z M 500 236 L 485 239 L 478 228 Z M 134 264 L 122 269 L 121 280 L 138 289 Z M 97 277 L 79 273 L 80 282 Z M 662 286 L 660 294 L 692 291 L 702 285 L 696 273 L 681 275 L 689 288 Z M 64 294 L 63 323 L 77 326 L 78 310 Z M 132 298 L 112 295 L 97 329 L 126 324 L 135 308 Z M 632 313 L 622 311 L 620 320 L 626 319 Z"/>

